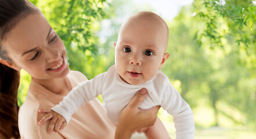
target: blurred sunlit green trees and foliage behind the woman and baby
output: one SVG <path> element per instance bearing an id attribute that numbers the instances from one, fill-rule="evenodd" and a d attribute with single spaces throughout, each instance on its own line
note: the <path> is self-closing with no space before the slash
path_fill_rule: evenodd
<path id="1" fill-rule="evenodd" d="M 156 12 L 170 28 L 171 55 L 162 71 L 193 110 L 195 138 L 256 138 L 255 1 L 157 1 L 166 12 L 135 0 L 30 1 L 62 38 L 70 69 L 88 79 L 114 64 L 113 43 L 125 17 Z M 30 80 L 21 70 L 19 105 Z M 172 116 L 163 109 L 158 116 L 175 138 Z"/>

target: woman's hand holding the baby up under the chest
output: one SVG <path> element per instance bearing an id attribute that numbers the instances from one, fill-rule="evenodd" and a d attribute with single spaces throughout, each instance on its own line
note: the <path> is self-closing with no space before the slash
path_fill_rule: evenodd
<path id="1" fill-rule="evenodd" d="M 129 104 L 122 109 L 116 129 L 116 139 L 131 138 L 132 133 L 136 130 L 154 125 L 160 106 L 155 106 L 150 109 L 138 108 L 146 96 L 146 89 L 139 90 Z"/>

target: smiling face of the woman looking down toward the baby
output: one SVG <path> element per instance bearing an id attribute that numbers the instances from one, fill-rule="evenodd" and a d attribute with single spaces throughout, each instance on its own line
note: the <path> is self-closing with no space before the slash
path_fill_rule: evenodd
<path id="1" fill-rule="evenodd" d="M 70 71 L 66 48 L 42 13 L 21 19 L 2 44 L 15 69 L 33 79 L 61 78 Z"/>

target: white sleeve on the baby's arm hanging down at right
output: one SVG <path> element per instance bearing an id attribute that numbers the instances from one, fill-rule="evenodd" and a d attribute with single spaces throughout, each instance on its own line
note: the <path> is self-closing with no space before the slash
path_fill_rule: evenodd
<path id="1" fill-rule="evenodd" d="M 161 100 L 161 107 L 174 116 L 176 139 L 194 138 L 192 109 L 170 83 L 165 87 Z"/>

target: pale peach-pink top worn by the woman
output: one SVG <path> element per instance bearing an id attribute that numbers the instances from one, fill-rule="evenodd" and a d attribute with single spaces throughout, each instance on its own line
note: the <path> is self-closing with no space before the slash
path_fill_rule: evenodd
<path id="1" fill-rule="evenodd" d="M 78 82 L 85 81 L 86 77 L 78 71 L 70 71 L 67 75 L 73 87 Z M 114 138 L 116 126 L 106 115 L 106 109 L 95 98 L 89 103 L 82 105 L 71 117 L 70 122 L 62 131 L 46 131 L 51 122 L 38 125 L 39 119 L 46 114 L 39 114 L 40 108 L 52 108 L 64 96 L 49 92 L 36 82 L 31 82 L 27 98 L 19 110 L 19 130 L 21 138 Z"/>

